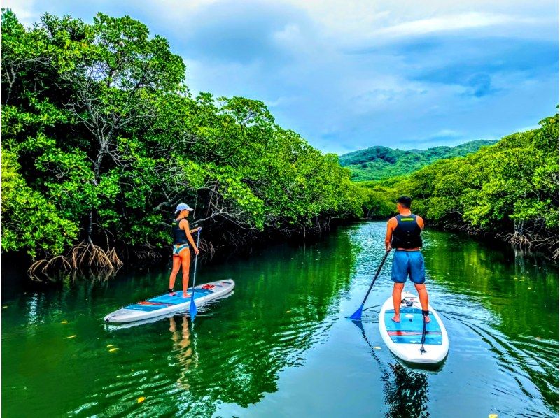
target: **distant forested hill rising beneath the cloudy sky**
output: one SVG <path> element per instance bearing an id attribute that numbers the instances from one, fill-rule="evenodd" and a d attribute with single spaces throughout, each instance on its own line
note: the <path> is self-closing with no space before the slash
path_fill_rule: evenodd
<path id="1" fill-rule="evenodd" d="M 477 152 L 480 147 L 495 144 L 495 140 L 472 140 L 455 147 L 433 147 L 428 150 L 393 150 L 388 147 L 370 147 L 339 157 L 340 165 L 350 168 L 352 180 L 383 180 L 412 173 L 439 159 L 463 157 Z"/>

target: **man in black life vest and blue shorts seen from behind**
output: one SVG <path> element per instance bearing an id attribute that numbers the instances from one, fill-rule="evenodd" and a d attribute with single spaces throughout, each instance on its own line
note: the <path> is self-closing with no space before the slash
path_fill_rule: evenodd
<path id="1" fill-rule="evenodd" d="M 392 217 L 387 222 L 387 233 L 385 236 L 386 250 L 395 248 L 393 256 L 393 268 L 391 279 L 393 285 L 393 306 L 395 316 L 393 321 L 400 322 L 400 295 L 405 287 L 407 277 L 414 283 L 418 291 L 422 314 L 426 322 L 430 322 L 428 317 L 428 291 L 426 291 L 426 271 L 424 270 L 424 258 L 420 252 L 422 238 L 420 233 L 424 228 L 424 221 L 418 215 L 410 211 L 412 199 L 408 196 L 400 196 L 397 199 L 398 215 Z"/>

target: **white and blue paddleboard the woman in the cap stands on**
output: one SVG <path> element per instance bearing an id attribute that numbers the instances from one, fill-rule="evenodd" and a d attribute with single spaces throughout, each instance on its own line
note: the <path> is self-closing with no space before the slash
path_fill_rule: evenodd
<path id="1" fill-rule="evenodd" d="M 209 301 L 229 294 L 235 287 L 235 282 L 231 279 L 220 280 L 207 284 L 195 286 L 194 297 L 197 308 Z M 190 296 L 192 289 L 188 289 Z M 106 315 L 103 320 L 108 324 L 124 324 L 126 322 L 142 321 L 155 317 L 164 317 L 175 312 L 188 311 L 190 297 L 183 298 L 183 291 L 174 292 L 173 296 L 169 293 L 155 296 L 146 301 L 132 303 L 124 308 Z"/>

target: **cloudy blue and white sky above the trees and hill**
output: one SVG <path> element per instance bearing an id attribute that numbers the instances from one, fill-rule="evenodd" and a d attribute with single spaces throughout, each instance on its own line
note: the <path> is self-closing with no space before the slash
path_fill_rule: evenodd
<path id="1" fill-rule="evenodd" d="M 426 149 L 532 129 L 559 102 L 559 3 L 332 0 L 3 0 L 129 15 L 183 57 L 193 94 L 267 104 L 323 152 Z"/>

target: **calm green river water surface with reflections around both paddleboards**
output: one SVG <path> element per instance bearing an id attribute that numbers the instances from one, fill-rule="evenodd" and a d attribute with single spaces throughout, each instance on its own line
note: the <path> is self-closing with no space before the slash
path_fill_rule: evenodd
<path id="1" fill-rule="evenodd" d="M 200 266 L 197 281 L 236 287 L 194 327 L 181 316 L 102 322 L 166 289 L 168 269 L 55 288 L 4 272 L 3 416 L 557 416 L 557 266 L 451 233 L 424 236 L 430 302 L 450 340 L 439 370 L 403 366 L 379 336 L 390 262 L 363 331 L 345 319 L 384 254 L 379 222 Z"/>

